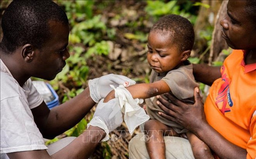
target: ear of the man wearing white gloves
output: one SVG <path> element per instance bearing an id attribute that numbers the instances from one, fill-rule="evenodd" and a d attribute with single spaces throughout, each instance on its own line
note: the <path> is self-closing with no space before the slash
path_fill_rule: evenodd
<path id="1" fill-rule="evenodd" d="M 35 58 L 35 47 L 31 44 L 25 44 L 21 48 L 21 55 L 25 62 L 31 62 Z"/>

